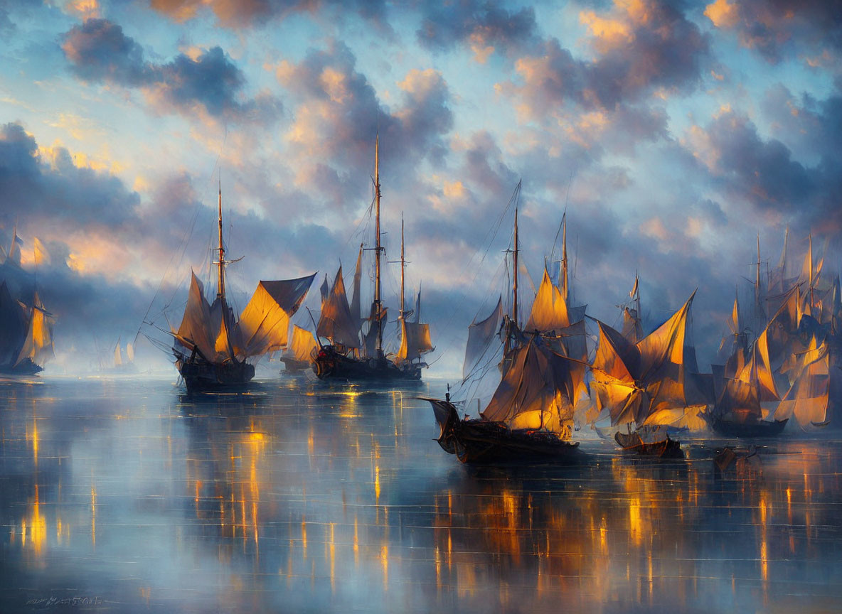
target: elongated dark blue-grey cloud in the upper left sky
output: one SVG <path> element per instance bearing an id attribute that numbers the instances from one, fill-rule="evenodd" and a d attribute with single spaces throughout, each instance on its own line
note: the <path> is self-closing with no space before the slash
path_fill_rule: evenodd
<path id="1" fill-rule="evenodd" d="M 244 100 L 246 78 L 220 47 L 172 61 L 147 61 L 143 48 L 107 19 L 87 19 L 64 34 L 61 49 L 71 70 L 87 82 L 139 87 L 159 109 L 192 114 L 196 109 L 227 119 L 274 119 L 280 102 Z"/>

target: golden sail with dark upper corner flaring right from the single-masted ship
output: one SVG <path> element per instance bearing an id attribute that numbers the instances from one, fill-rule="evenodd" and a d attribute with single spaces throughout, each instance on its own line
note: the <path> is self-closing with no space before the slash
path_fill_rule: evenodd
<path id="1" fill-rule="evenodd" d="M 259 356 L 284 349 L 290 317 L 296 313 L 316 273 L 303 278 L 262 281 L 237 323 L 237 354 Z"/>

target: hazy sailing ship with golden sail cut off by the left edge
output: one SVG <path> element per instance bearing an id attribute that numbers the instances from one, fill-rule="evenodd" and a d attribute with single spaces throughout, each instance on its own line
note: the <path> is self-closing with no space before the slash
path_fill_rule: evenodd
<path id="1" fill-rule="evenodd" d="M 30 304 L 13 299 L 5 281 L 0 283 L 0 373 L 34 375 L 55 357 L 52 314 L 45 310 L 38 292 Z"/>

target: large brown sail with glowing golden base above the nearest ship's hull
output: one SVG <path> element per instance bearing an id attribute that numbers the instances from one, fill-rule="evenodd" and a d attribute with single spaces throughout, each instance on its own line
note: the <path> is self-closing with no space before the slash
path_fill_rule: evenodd
<path id="1" fill-rule="evenodd" d="M 546 429 L 569 437 L 573 382 L 567 358 L 529 341 L 514 350 L 512 366 L 482 412 L 509 428 Z"/>

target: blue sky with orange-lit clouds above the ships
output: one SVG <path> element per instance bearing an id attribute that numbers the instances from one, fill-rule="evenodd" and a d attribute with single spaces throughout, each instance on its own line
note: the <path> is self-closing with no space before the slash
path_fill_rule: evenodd
<path id="1" fill-rule="evenodd" d="M 56 315 L 48 373 L 90 368 L 177 325 L 191 267 L 210 283 L 220 185 L 240 307 L 259 279 L 352 274 L 379 134 L 429 373 L 459 372 L 504 291 L 519 181 L 536 283 L 566 210 L 577 302 L 616 324 L 638 273 L 652 328 L 698 288 L 704 365 L 758 235 L 764 269 L 787 228 L 839 268 L 840 55 L 823 0 L 0 0 L 0 245 L 17 228 Z"/>

